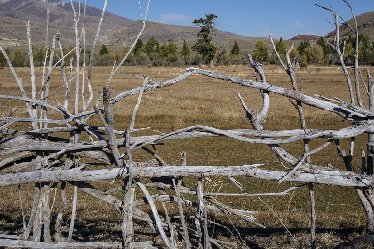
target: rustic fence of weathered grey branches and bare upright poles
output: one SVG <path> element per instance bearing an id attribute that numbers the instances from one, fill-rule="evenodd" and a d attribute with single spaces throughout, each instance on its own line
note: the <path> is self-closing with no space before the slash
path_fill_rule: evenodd
<path id="1" fill-rule="evenodd" d="M 343 0 L 344 1 L 344 0 Z M 358 43 L 356 44 L 356 54 L 354 55 L 355 63 L 355 77 L 354 86 L 355 93 L 353 93 L 353 84 L 347 72 L 347 67 L 343 62 L 344 52 L 339 50 L 339 29 L 338 29 L 338 14 L 332 8 L 327 9 L 332 12 L 336 24 L 336 35 L 331 46 L 338 53 L 341 60 L 342 69 L 346 75 L 348 90 L 350 93 L 351 103 L 343 102 L 338 99 L 327 99 L 321 95 L 307 96 L 299 91 L 297 84 L 297 69 L 298 63 L 289 57 L 293 45 L 286 51 L 286 62 L 282 62 L 278 53 L 283 69 L 289 75 L 292 82 L 292 89 L 269 84 L 266 81 L 266 74 L 264 65 L 255 63 L 252 60 L 251 54 L 248 54 L 248 65 L 250 69 L 256 72 L 253 73 L 254 80 L 240 79 L 229 75 L 210 72 L 198 68 L 187 68 L 183 74 L 165 81 L 155 81 L 150 77 L 144 75 L 139 76 L 143 80 L 142 87 L 133 88 L 116 96 L 110 95 L 110 81 L 119 67 L 122 65 L 126 56 L 131 52 L 138 37 L 145 27 L 145 19 L 147 11 L 145 12 L 143 20 L 143 28 L 140 31 L 137 39 L 134 41 L 131 49 L 117 66 L 113 66 L 113 71 L 106 82 L 103 82 L 102 93 L 95 96 L 95 91 L 91 87 L 92 75 L 92 61 L 95 44 L 99 36 L 99 31 L 104 17 L 105 8 L 108 0 L 105 1 L 102 10 L 102 15 L 99 21 L 98 31 L 93 41 L 91 50 L 91 58 L 88 62 L 87 75 L 86 62 L 83 53 L 83 63 L 80 63 L 80 49 L 85 48 L 85 28 L 84 15 L 83 27 L 78 27 L 80 13 L 76 13 L 73 3 L 71 6 L 74 12 L 74 29 L 76 37 L 76 47 L 69 53 L 75 52 L 76 67 L 75 72 L 71 70 L 69 75 L 65 72 L 65 57 L 67 54 L 62 52 L 62 44 L 60 42 L 60 34 L 53 36 L 52 44 L 48 49 L 50 50 L 50 59 L 44 61 L 43 79 L 42 82 L 36 82 L 33 54 L 31 49 L 31 30 L 30 24 L 27 22 L 27 34 L 29 44 L 29 58 L 31 69 L 31 96 L 27 96 L 24 91 L 24 86 L 16 75 L 9 57 L 4 52 L 3 47 L 0 46 L 1 52 L 6 57 L 9 64 L 10 71 L 18 83 L 21 96 L 0 95 L 3 99 L 13 99 L 25 102 L 28 117 L 12 117 L 15 109 L 12 109 L 8 114 L 5 114 L 5 108 L 1 117 L 0 130 L 3 133 L 0 141 L 0 155 L 7 155 L 6 159 L 0 162 L 0 172 L 7 173 L 0 175 L 0 187 L 11 185 L 18 185 L 21 191 L 21 184 L 35 184 L 34 187 L 34 202 L 30 211 L 30 215 L 23 212 L 22 201 L 21 210 L 23 215 L 22 238 L 18 236 L 0 234 L 0 246 L 7 247 L 27 247 L 27 248 L 156 248 L 153 242 L 138 242 L 134 240 L 133 220 L 142 221 L 148 224 L 154 233 L 162 237 L 164 246 L 169 249 L 177 248 L 177 240 L 181 240 L 186 248 L 248 248 L 242 240 L 240 245 L 235 243 L 221 241 L 215 239 L 208 233 L 208 224 L 220 226 L 223 229 L 229 230 L 225 225 L 216 221 L 211 221 L 208 218 L 209 212 L 221 212 L 228 218 L 229 215 L 239 217 L 246 222 L 253 225 L 264 227 L 255 222 L 255 211 L 245 211 L 233 209 L 229 206 L 217 201 L 214 196 L 268 196 L 268 195 L 283 195 L 289 193 L 291 190 L 301 186 L 308 185 L 311 203 L 311 246 L 316 247 L 315 244 L 315 197 L 313 192 L 313 184 L 331 184 L 337 186 L 354 187 L 358 194 L 361 203 L 367 214 L 367 228 L 368 233 L 374 230 L 374 199 L 373 199 L 373 154 L 374 154 L 374 125 L 373 125 L 373 104 L 374 104 L 374 85 L 371 72 L 367 69 L 367 82 L 362 76 L 358 65 Z M 149 2 L 148 2 L 149 4 Z M 349 6 L 350 7 L 350 6 Z M 353 15 L 353 12 L 352 12 Z M 354 15 L 353 15 L 354 17 Z M 347 22 L 346 25 L 349 26 Z M 356 34 L 356 41 L 358 41 L 357 25 L 355 22 L 354 28 L 350 27 Z M 272 40 L 271 34 L 269 35 Z M 47 39 L 48 41 L 48 39 Z M 58 56 L 55 51 L 59 48 L 60 55 L 58 63 L 53 65 L 53 57 Z M 275 49 L 274 43 L 273 47 Z M 275 50 L 276 51 L 276 50 Z M 47 56 L 46 56 L 47 58 Z M 55 89 L 50 89 L 50 75 L 60 65 L 61 76 L 64 82 L 61 87 L 65 87 L 65 94 L 61 99 L 61 103 L 57 106 L 48 103 L 50 96 L 57 97 L 54 94 Z M 73 68 L 73 61 L 70 61 L 70 69 Z M 80 75 L 82 74 L 82 78 Z M 263 105 L 260 112 L 248 108 L 238 93 L 239 101 L 243 106 L 244 113 L 248 121 L 253 127 L 253 130 L 219 130 L 213 127 L 203 125 L 196 125 L 186 127 L 168 134 L 158 134 L 153 136 L 132 136 L 133 132 L 144 130 L 147 128 L 135 129 L 134 124 L 136 120 L 137 109 L 140 105 L 142 94 L 147 91 L 157 90 L 161 87 L 168 87 L 177 84 L 193 74 L 205 75 L 227 81 L 229 83 L 239 84 L 245 87 L 255 88 L 260 91 L 263 99 Z M 360 77 L 359 77 L 360 76 Z M 366 93 L 369 98 L 369 106 L 365 108 L 362 105 L 361 95 L 359 91 L 359 80 L 361 78 L 362 84 L 365 86 Z M 75 84 L 71 84 L 75 82 Z M 87 87 L 89 96 L 85 96 L 84 88 Z M 74 91 L 74 103 L 69 105 L 70 93 Z M 38 94 L 37 94 L 38 93 Z M 82 93 L 82 94 L 80 94 Z M 270 106 L 269 93 L 279 94 L 287 97 L 294 102 L 294 107 L 297 109 L 300 117 L 301 129 L 296 130 L 281 130 L 281 131 L 267 131 L 263 127 L 263 122 L 266 118 Z M 116 108 L 116 104 L 122 99 L 134 95 L 138 95 L 137 104 L 132 113 L 129 130 L 118 131 L 115 129 L 115 120 L 112 114 L 112 109 Z M 92 100 L 95 98 L 95 103 Z M 357 100 L 358 105 L 355 104 Z M 101 105 L 102 108 L 98 106 Z M 63 103 L 63 104 L 62 104 Z M 352 122 L 352 125 L 339 130 L 317 130 L 309 127 L 305 122 L 303 112 L 303 105 L 309 105 L 316 109 L 326 110 L 343 119 Z M 73 109 L 69 110 L 69 108 Z M 57 116 L 58 119 L 52 119 Z M 74 114 L 73 114 L 74 113 Z M 93 116 L 97 116 L 102 122 L 101 127 L 89 126 L 87 121 Z M 31 131 L 19 131 L 9 128 L 15 122 L 27 122 L 31 124 Z M 57 124 L 54 127 L 49 127 L 49 124 Z M 81 134 L 87 133 L 89 141 L 82 140 Z M 61 136 L 53 136 L 53 133 L 67 134 L 67 138 Z M 361 172 L 352 172 L 350 165 L 353 157 L 355 137 L 362 133 L 368 133 L 368 147 L 365 155 L 364 148 L 362 149 L 362 169 Z M 153 145 L 166 140 L 179 140 L 184 138 L 201 138 L 201 137 L 229 137 L 234 140 L 243 141 L 255 144 L 267 144 L 285 164 L 287 164 L 288 172 L 270 171 L 261 169 L 261 165 L 232 165 L 232 166 L 198 166 L 188 165 L 187 155 L 181 152 L 181 165 L 168 165 L 154 150 Z M 254 138 L 253 138 L 254 137 Z M 314 138 L 323 138 L 325 143 L 316 148 L 310 148 L 308 141 Z M 349 152 L 346 153 L 340 146 L 340 139 L 349 138 L 351 140 Z M 282 144 L 292 143 L 297 140 L 303 141 L 304 154 L 297 158 L 288 153 L 282 148 Z M 327 146 L 333 146 L 338 150 L 338 153 L 343 157 L 346 170 L 341 170 L 333 165 L 315 165 L 310 160 L 310 155 L 319 152 Z M 154 156 L 154 159 L 145 162 L 135 163 L 132 160 L 132 152 L 138 149 L 144 149 Z M 123 149 L 124 153 L 120 153 L 119 149 Z M 94 163 L 80 163 L 80 159 L 90 159 L 89 162 Z M 90 170 L 89 166 L 101 162 L 108 165 L 105 169 Z M 282 163 L 283 164 L 283 163 Z M 196 189 L 189 189 L 183 186 L 184 177 L 196 177 Z M 239 193 L 205 193 L 203 188 L 203 178 L 223 176 L 227 177 L 240 189 Z M 242 185 L 234 177 L 252 177 L 264 180 L 297 182 L 300 185 L 285 189 L 279 193 L 244 193 Z M 142 179 L 148 178 L 151 183 L 144 183 Z M 123 186 L 116 187 L 109 190 L 97 189 L 90 184 L 95 181 L 117 180 L 122 181 Z M 62 233 L 62 224 L 67 221 L 63 220 L 68 200 L 66 196 L 66 185 L 74 186 L 71 221 L 68 225 L 69 233 L 65 237 Z M 157 187 L 161 195 L 150 195 L 149 187 Z M 144 194 L 144 198 L 134 200 L 134 190 L 139 188 Z M 61 206 L 59 207 L 56 217 L 51 217 L 49 196 L 53 190 L 59 189 L 61 196 Z M 80 192 L 78 192 L 80 190 Z M 168 192 L 166 192 L 168 190 Z M 123 191 L 123 198 L 118 199 L 111 195 L 116 191 Z M 172 194 L 170 194 L 172 191 Z M 79 201 L 78 193 L 89 194 L 92 197 L 109 203 L 114 210 L 120 213 L 122 218 L 122 240 L 121 242 L 72 242 L 72 235 L 74 233 L 75 212 L 77 202 Z M 19 192 L 20 193 L 20 192 Z M 194 199 L 186 199 L 183 194 L 192 194 Z M 21 196 L 21 194 L 19 195 Z M 21 200 L 21 198 L 20 198 Z M 164 202 L 175 202 L 175 208 L 178 209 L 178 216 L 172 217 L 168 214 L 168 209 Z M 155 203 L 161 203 L 165 217 L 160 218 L 159 211 Z M 149 205 L 151 213 L 141 211 L 139 208 L 142 205 Z M 196 209 L 194 215 L 186 215 L 183 206 L 193 206 Z M 27 213 L 27 212 L 26 212 Z M 28 214 L 28 213 L 27 213 Z M 53 218 L 53 219 L 52 219 Z M 179 219 L 179 223 L 175 221 Z M 193 222 L 188 223 L 187 219 L 192 219 Z M 54 229 L 51 228 L 51 220 L 55 220 Z M 229 218 L 230 220 L 230 218 Z M 231 220 L 230 220 L 231 221 Z M 193 225 L 191 225 L 191 223 Z M 187 224 L 190 224 L 189 226 Z M 234 227 L 237 232 L 237 229 Z M 42 229 L 43 228 L 43 229 Z M 30 236 L 32 231 L 32 236 Z M 43 231 L 43 239 L 42 239 Z M 54 231 L 54 234 L 50 234 Z M 231 233 L 231 230 L 229 230 Z M 210 235 L 210 236 L 209 236 Z M 238 237 L 242 237 L 238 233 Z M 54 242 L 51 242 L 52 238 Z M 33 241 L 31 241 L 33 240 Z M 42 242 L 43 240 L 43 242 Z M 338 245 L 337 248 L 358 248 L 360 243 L 373 240 L 373 236 L 363 236 L 354 239 L 352 242 Z"/>

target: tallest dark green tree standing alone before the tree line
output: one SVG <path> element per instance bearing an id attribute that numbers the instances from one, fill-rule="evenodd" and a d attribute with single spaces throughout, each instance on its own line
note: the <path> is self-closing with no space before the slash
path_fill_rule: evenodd
<path id="1" fill-rule="evenodd" d="M 192 46 L 192 50 L 202 55 L 204 60 L 208 60 L 209 67 L 212 67 L 216 47 L 214 44 L 211 44 L 211 41 L 212 38 L 217 34 L 214 21 L 214 18 L 217 18 L 217 16 L 214 14 L 205 16 L 205 19 L 195 19 L 195 21 L 192 22 L 201 28 L 199 33 L 197 33 L 197 43 Z"/>

